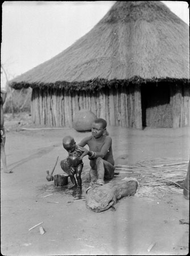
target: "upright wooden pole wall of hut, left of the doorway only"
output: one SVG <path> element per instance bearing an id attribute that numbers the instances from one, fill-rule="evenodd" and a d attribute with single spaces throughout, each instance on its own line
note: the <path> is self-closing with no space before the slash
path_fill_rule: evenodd
<path id="1" fill-rule="evenodd" d="M 139 96 L 136 97 L 139 101 Z M 72 127 L 75 114 L 89 109 L 98 118 L 106 119 L 108 125 L 132 127 L 134 105 L 134 90 L 129 94 L 125 87 L 95 93 L 35 88 L 32 90 L 32 121 L 36 125 Z"/>

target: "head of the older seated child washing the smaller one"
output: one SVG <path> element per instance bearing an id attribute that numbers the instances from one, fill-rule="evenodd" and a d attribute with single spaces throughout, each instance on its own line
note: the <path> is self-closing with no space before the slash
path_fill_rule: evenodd
<path id="1" fill-rule="evenodd" d="M 100 138 L 102 135 L 108 135 L 106 131 L 107 122 L 103 118 L 97 118 L 92 123 L 92 135 L 94 138 Z"/>

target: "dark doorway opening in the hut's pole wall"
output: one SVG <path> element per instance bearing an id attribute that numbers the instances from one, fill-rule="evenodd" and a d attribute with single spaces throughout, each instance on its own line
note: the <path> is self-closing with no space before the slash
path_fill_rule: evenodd
<path id="1" fill-rule="evenodd" d="M 170 98 L 170 85 L 141 86 L 143 127 L 172 127 Z"/>

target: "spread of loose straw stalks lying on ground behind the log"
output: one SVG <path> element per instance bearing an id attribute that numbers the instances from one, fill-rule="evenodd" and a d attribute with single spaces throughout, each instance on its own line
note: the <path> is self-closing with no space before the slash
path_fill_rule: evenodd
<path id="1" fill-rule="evenodd" d="M 188 161 L 173 158 L 144 159 L 130 166 L 118 165 L 115 170 L 136 177 L 139 186 L 183 193 Z"/>

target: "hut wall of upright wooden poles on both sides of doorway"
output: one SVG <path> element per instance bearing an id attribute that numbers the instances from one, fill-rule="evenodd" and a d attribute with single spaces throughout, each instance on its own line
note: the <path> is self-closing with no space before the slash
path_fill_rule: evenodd
<path id="1" fill-rule="evenodd" d="M 189 85 L 170 86 L 172 127 L 190 126 Z M 141 89 L 139 86 L 105 88 L 98 92 L 68 92 L 64 89 L 32 90 L 32 121 L 36 125 L 72 127 L 73 117 L 89 109 L 111 126 L 142 129 Z"/>

